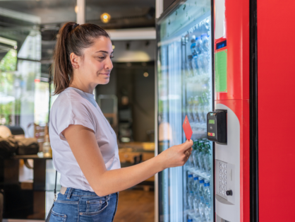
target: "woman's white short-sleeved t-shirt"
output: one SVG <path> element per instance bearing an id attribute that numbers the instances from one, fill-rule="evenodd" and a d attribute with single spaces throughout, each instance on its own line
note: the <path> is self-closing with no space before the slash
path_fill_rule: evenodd
<path id="1" fill-rule="evenodd" d="M 59 94 L 52 105 L 49 137 L 54 167 L 61 173 L 61 186 L 93 192 L 73 156 L 68 141 L 61 134 L 70 124 L 83 125 L 95 132 L 107 170 L 121 168 L 116 134 L 95 102 L 93 94 L 69 87 Z"/>

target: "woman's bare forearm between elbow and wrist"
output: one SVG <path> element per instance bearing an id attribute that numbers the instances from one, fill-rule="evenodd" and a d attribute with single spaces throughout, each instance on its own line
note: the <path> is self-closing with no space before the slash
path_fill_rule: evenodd
<path id="1" fill-rule="evenodd" d="M 107 170 L 99 178 L 97 187 L 92 188 L 97 195 L 105 196 L 133 187 L 161 170 L 164 170 L 161 158 L 156 156 L 128 168 Z"/>

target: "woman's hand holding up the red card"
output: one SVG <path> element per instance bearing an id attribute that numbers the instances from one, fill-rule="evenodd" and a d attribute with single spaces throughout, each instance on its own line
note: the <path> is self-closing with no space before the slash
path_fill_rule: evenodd
<path id="1" fill-rule="evenodd" d="M 164 169 L 175 168 L 186 163 L 193 151 L 193 141 L 187 140 L 183 144 L 171 146 L 158 155 Z M 163 170 L 164 170 L 163 169 Z"/>

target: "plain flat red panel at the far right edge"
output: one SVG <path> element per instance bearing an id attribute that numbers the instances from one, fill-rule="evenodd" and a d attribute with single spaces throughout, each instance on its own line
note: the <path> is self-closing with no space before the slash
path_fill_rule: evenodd
<path id="1" fill-rule="evenodd" d="M 294 221 L 294 0 L 258 1 L 260 221 Z"/>

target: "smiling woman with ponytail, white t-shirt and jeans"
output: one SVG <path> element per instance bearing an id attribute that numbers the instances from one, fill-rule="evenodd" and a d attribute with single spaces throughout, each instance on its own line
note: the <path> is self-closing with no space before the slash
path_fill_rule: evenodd
<path id="1" fill-rule="evenodd" d="M 54 86 L 49 135 L 61 192 L 50 221 L 114 220 L 118 192 L 165 168 L 186 163 L 193 141 L 172 146 L 155 158 L 121 168 L 116 134 L 92 94 L 109 83 L 112 42 L 97 25 L 66 23 L 54 54 Z"/>

